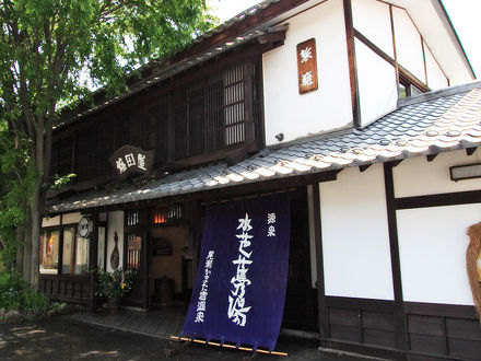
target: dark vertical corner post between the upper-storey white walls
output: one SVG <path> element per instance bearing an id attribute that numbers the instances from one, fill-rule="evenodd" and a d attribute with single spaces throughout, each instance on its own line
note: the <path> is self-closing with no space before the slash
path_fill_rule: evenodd
<path id="1" fill-rule="evenodd" d="M 354 26 L 352 21 L 351 0 L 343 0 L 343 5 L 345 40 L 348 44 L 349 79 L 351 84 L 352 121 L 354 127 L 359 129 L 361 128 L 361 105 L 359 97 L 357 66 L 355 58 Z"/>

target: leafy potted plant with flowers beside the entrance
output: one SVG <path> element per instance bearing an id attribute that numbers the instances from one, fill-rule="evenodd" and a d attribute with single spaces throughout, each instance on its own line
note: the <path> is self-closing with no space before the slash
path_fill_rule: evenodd
<path id="1" fill-rule="evenodd" d="M 97 290 L 96 294 L 103 298 L 122 298 L 132 288 L 136 271 L 133 269 L 117 268 L 113 272 L 96 269 Z"/>

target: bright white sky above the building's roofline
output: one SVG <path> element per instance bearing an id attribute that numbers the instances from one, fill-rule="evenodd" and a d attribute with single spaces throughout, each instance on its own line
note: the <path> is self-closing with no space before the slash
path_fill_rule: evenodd
<path id="1" fill-rule="evenodd" d="M 412 0 L 414 1 L 414 0 Z M 429 0 L 415 0 L 429 1 Z M 461 40 L 471 67 L 481 79 L 481 0 L 442 0 L 453 25 Z M 221 21 L 226 21 L 239 12 L 261 2 L 259 0 L 208 0 L 208 3 L 216 8 L 215 15 Z"/>

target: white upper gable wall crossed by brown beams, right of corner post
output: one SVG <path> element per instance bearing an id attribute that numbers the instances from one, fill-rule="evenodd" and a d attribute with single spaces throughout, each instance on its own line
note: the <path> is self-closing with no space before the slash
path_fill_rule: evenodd
<path id="1" fill-rule="evenodd" d="M 392 59 L 396 58 L 396 45 L 398 62 L 431 90 L 448 85 L 430 46 L 422 40 L 422 35 L 404 9 L 392 7 L 392 26 L 387 2 L 352 0 L 352 12 L 356 31 Z M 361 125 L 364 126 L 397 107 L 398 85 L 395 67 L 359 39 L 355 39 L 355 56 Z"/>

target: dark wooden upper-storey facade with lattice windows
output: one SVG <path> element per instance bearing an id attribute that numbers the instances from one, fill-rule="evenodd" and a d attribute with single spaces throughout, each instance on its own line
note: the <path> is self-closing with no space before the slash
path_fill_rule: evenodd
<path id="1" fill-rule="evenodd" d="M 141 106 L 125 103 L 92 115 L 79 130 L 69 130 L 72 136 L 54 141 L 50 172 L 75 173 L 74 182 L 112 175 L 107 159 L 126 144 L 154 150 L 156 168 L 227 152 L 247 141 L 246 115 L 253 113 L 247 107 L 253 104 L 255 138 L 262 137 L 259 69 L 258 62 L 233 65 L 156 97 L 149 95 Z"/>

